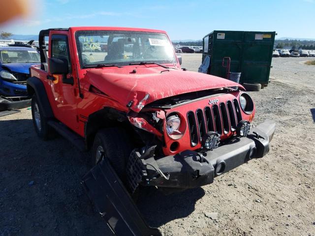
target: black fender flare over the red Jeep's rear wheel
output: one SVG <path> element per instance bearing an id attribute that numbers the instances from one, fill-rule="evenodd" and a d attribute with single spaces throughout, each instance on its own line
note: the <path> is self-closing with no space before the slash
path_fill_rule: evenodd
<path id="1" fill-rule="evenodd" d="M 54 118 L 53 110 L 51 109 L 46 89 L 43 82 L 37 77 L 30 77 L 27 80 L 27 90 L 30 97 L 35 93 L 39 109 L 43 111 L 45 118 Z"/>

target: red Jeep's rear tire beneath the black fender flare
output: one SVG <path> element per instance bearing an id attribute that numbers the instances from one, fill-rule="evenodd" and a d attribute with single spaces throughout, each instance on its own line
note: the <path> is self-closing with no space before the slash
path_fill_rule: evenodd
<path id="1" fill-rule="evenodd" d="M 55 136 L 55 130 L 48 125 L 47 119 L 44 117 L 42 110 L 37 102 L 36 94 L 32 96 L 32 119 L 35 131 L 39 138 L 48 140 Z"/>

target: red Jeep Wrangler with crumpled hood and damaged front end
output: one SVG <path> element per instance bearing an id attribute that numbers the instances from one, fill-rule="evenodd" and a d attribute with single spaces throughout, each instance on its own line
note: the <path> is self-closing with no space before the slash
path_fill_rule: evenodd
<path id="1" fill-rule="evenodd" d="M 91 150 L 93 165 L 106 158 L 131 193 L 139 184 L 210 184 L 269 151 L 275 123 L 251 128 L 255 106 L 245 89 L 182 69 L 165 31 L 47 29 L 39 47 L 41 65 L 27 82 L 38 136 L 57 131 Z"/>

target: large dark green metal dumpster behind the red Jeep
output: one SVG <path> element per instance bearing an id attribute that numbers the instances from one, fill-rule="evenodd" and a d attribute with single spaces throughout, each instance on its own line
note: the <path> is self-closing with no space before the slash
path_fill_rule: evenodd
<path id="1" fill-rule="evenodd" d="M 241 73 L 240 83 L 269 83 L 276 32 L 214 30 L 203 38 L 202 61 L 209 56 L 207 73 L 227 78 L 223 58 L 230 58 L 230 72 Z"/>

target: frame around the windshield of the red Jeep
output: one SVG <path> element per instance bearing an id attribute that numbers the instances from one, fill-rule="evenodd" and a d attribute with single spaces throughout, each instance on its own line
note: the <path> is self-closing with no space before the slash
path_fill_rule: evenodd
<path id="1" fill-rule="evenodd" d="M 79 40 L 79 37 L 82 36 L 82 35 L 102 35 L 102 32 L 103 32 L 103 35 L 104 34 L 110 34 L 110 32 L 112 32 L 113 34 L 117 33 L 126 33 L 126 32 L 131 32 L 131 33 L 135 33 L 135 34 L 151 34 L 151 35 L 154 35 L 154 34 L 157 34 L 157 35 L 164 35 L 165 38 L 167 39 L 167 43 L 169 43 L 170 45 L 170 49 L 172 50 L 172 56 L 174 58 L 174 61 L 171 62 L 171 61 L 165 61 L 165 60 L 153 60 L 153 59 L 139 59 L 139 60 L 126 60 L 126 61 L 108 61 L 108 62 L 105 62 L 105 61 L 98 61 L 96 62 L 95 64 L 84 64 L 83 63 L 83 59 L 82 59 L 82 56 L 81 54 L 83 53 L 82 48 L 80 46 L 80 40 Z M 76 30 L 75 33 L 75 44 L 76 44 L 76 48 L 77 48 L 77 55 L 78 55 L 78 59 L 79 59 L 79 64 L 80 64 L 80 68 L 81 69 L 87 69 L 87 68 L 96 68 L 97 67 L 97 64 L 113 64 L 113 66 L 127 66 L 129 65 L 129 63 L 140 63 L 140 62 L 157 62 L 157 63 L 160 63 L 160 64 L 172 64 L 172 65 L 175 65 L 175 64 L 178 64 L 178 59 L 177 59 L 177 56 L 176 56 L 176 53 L 175 53 L 175 50 L 173 48 L 173 44 L 171 43 L 168 35 L 166 33 L 163 33 L 163 32 L 154 32 L 154 31 L 138 31 L 138 30 L 113 30 L 113 29 L 108 29 L 108 30 L 101 30 L 101 29 L 96 29 L 96 30 L 90 30 L 90 29 L 87 29 L 87 30 Z M 95 65 L 95 66 L 93 66 Z"/>

